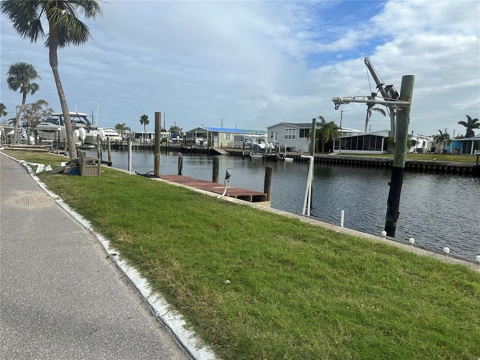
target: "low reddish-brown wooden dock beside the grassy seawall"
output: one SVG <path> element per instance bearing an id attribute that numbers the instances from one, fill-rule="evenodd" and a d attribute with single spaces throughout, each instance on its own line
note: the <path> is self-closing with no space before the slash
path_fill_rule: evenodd
<path id="1" fill-rule="evenodd" d="M 214 192 L 219 195 L 223 193 L 223 190 L 225 188 L 224 185 L 221 183 L 200 180 L 197 178 L 183 175 L 160 175 L 159 177 L 166 181 L 182 184 L 200 190 Z M 241 187 L 228 185 L 225 196 L 234 197 L 248 202 L 264 202 L 264 205 L 269 206 L 269 201 L 267 201 L 267 194 L 264 192 L 253 191 Z"/>

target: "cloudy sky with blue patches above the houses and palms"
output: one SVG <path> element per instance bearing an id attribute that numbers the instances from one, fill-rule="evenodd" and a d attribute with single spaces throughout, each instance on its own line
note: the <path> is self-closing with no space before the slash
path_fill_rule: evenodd
<path id="1" fill-rule="evenodd" d="M 479 1 L 119 1 L 101 2 L 85 20 L 92 38 L 58 51 L 70 111 L 98 116 L 101 127 L 125 122 L 143 130 L 155 111 L 167 128 L 265 129 L 280 121 L 327 121 L 363 129 L 365 104 L 334 109 L 334 96 L 367 95 L 363 58 L 400 91 L 415 75 L 410 130 L 464 133 L 465 115 L 480 117 Z M 44 99 L 60 111 L 43 41 L 20 38 L 0 15 L 0 100 L 14 116 L 21 94 L 5 73 L 32 63 Z M 46 27 L 47 28 L 47 27 Z M 369 85 L 370 81 L 370 85 Z M 98 113 L 97 113 L 98 107 Z M 389 128 L 373 113 L 371 131 Z M 478 132 L 478 131 L 477 131 Z"/>

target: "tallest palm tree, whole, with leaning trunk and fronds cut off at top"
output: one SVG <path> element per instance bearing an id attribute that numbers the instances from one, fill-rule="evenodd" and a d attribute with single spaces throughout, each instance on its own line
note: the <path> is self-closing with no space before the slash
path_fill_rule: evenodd
<path id="1" fill-rule="evenodd" d="M 46 36 L 45 46 L 48 47 L 48 59 L 65 121 L 66 139 L 70 149 L 68 153 L 72 159 L 76 156 L 76 147 L 70 113 L 58 74 L 57 49 L 70 44 L 85 43 L 90 37 L 90 29 L 78 19 L 78 12 L 86 18 L 94 18 L 100 14 L 100 6 L 96 0 L 4 0 L 0 4 L 0 10 L 21 37 L 36 42 L 38 37 Z M 41 24 L 42 15 L 48 22 L 46 35 Z"/>

